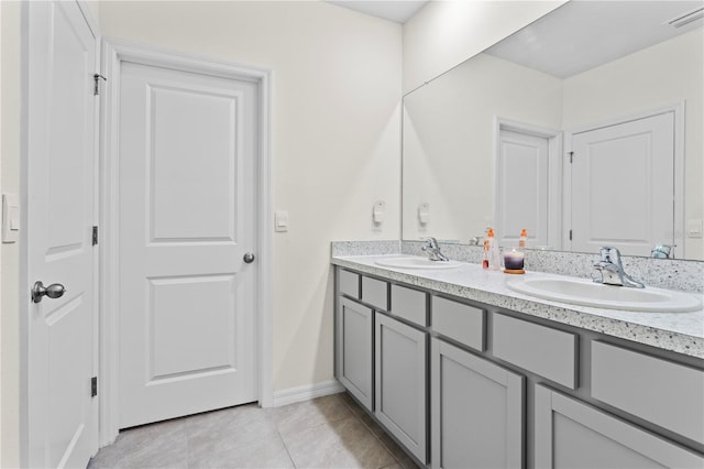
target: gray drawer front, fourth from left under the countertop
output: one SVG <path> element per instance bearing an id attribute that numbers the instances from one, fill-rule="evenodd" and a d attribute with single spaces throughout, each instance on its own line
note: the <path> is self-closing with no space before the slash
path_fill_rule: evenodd
<path id="1" fill-rule="evenodd" d="M 484 309 L 433 296 L 431 315 L 432 330 L 484 351 Z"/>

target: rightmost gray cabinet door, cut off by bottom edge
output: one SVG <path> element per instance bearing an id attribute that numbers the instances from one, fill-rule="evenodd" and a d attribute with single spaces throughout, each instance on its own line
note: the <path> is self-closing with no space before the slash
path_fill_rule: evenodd
<path id="1" fill-rule="evenodd" d="M 536 386 L 538 468 L 702 468 L 704 457 L 542 385 Z"/>

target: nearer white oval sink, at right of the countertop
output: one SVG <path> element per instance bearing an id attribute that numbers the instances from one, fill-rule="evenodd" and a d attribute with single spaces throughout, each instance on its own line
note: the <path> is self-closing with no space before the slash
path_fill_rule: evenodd
<path id="1" fill-rule="evenodd" d="M 660 288 L 631 288 L 568 279 L 525 279 L 506 282 L 514 292 L 573 305 L 647 313 L 700 310 L 693 294 Z"/>

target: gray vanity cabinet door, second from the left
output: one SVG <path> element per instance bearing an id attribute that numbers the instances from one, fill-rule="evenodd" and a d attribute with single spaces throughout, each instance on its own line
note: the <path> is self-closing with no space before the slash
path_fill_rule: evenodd
<path id="1" fill-rule="evenodd" d="M 427 462 L 427 334 L 376 314 L 378 421 L 421 462 Z"/>

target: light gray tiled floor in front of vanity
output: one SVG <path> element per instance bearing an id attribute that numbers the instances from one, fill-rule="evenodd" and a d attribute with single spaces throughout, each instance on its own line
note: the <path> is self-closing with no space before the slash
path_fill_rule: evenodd
<path id="1" fill-rule="evenodd" d="M 121 432 L 98 468 L 387 468 L 414 461 L 346 394 L 256 404 Z"/>

